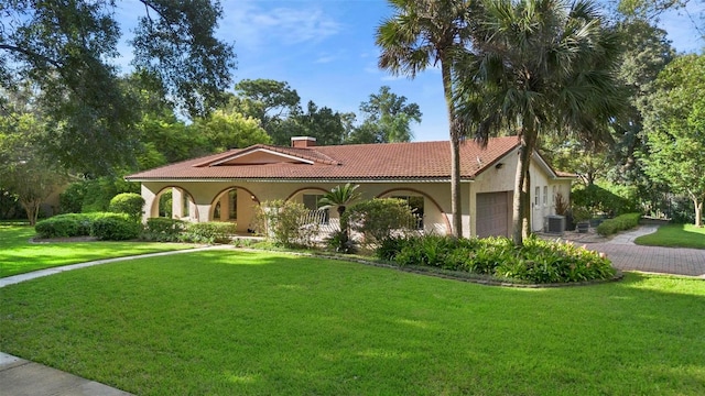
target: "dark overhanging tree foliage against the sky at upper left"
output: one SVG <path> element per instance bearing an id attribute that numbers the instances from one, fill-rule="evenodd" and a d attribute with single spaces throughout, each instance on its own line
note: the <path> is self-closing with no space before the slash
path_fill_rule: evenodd
<path id="1" fill-rule="evenodd" d="M 133 66 L 186 114 L 209 112 L 235 67 L 232 46 L 214 36 L 219 2 L 140 2 Z M 137 145 L 139 107 L 118 77 L 123 32 L 116 7 L 113 0 L 0 4 L 0 86 L 33 85 L 48 118 L 44 146 L 82 173 L 110 173 L 132 160 L 126 153 Z"/>

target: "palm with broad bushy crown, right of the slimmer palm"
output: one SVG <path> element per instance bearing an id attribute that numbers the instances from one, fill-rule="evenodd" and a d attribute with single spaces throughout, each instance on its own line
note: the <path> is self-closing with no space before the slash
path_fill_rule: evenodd
<path id="1" fill-rule="evenodd" d="M 541 133 L 609 139 L 618 114 L 621 52 L 589 0 L 492 0 L 482 3 L 471 51 L 456 65 L 458 116 L 476 138 L 517 130 L 512 240 L 529 234 L 529 165 Z"/>

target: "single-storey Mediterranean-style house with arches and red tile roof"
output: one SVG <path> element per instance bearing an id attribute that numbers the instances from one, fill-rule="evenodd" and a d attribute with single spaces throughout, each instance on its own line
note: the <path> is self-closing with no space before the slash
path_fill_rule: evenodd
<path id="1" fill-rule="evenodd" d="M 482 148 L 460 146 L 464 237 L 509 235 L 517 174 L 517 136 L 490 139 Z M 142 184 L 144 219 L 159 217 L 160 197 L 172 191 L 172 216 L 187 221 L 234 221 L 247 232 L 254 206 L 285 199 L 311 210 L 333 187 L 360 187 L 361 199 L 397 197 L 422 217 L 426 232 L 451 233 L 449 142 L 316 146 L 292 138 L 290 147 L 257 144 L 162 166 L 126 177 Z M 530 167 L 531 224 L 545 227 L 555 199 L 571 194 L 572 174 L 554 170 L 534 152 Z M 335 210 L 330 217 L 335 218 Z M 334 219 L 332 219 L 334 220 Z"/>

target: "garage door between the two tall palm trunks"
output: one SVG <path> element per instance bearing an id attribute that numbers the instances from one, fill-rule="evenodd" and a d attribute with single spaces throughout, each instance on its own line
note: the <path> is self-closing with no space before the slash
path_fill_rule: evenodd
<path id="1" fill-rule="evenodd" d="M 476 196 L 477 237 L 509 235 L 509 195 L 511 191 Z"/>

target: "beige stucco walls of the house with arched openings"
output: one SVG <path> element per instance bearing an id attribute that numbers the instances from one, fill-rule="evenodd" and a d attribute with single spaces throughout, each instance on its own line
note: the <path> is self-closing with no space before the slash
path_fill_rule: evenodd
<path id="1" fill-rule="evenodd" d="M 476 197 L 482 193 L 512 191 L 517 173 L 517 152 L 513 151 L 502 157 L 480 174 L 474 182 L 462 184 L 462 216 L 464 237 L 476 235 Z M 501 165 L 499 165 L 501 164 Z M 531 177 L 531 213 L 534 231 L 543 229 L 544 217 L 555 213 L 554 195 L 561 193 L 566 199 L 570 197 L 570 179 L 552 179 L 534 161 L 530 168 Z M 178 187 L 184 194 L 193 197 L 192 221 L 213 221 L 213 208 L 218 199 L 231 188 L 238 188 L 238 231 L 245 232 L 250 227 L 253 208 L 260 202 L 274 199 L 294 199 L 303 201 L 304 194 L 324 194 L 341 183 L 290 183 L 290 182 L 145 182 L 142 183 L 142 197 L 145 200 L 145 216 L 159 215 L 158 194 L 169 187 Z M 535 187 L 540 187 L 539 205 L 535 205 Z M 544 187 L 549 193 L 546 204 L 543 204 Z M 555 187 L 555 190 L 554 190 Z M 361 183 L 358 191 L 361 199 L 391 196 L 423 196 L 424 197 L 424 229 L 426 232 L 440 234 L 448 233 L 453 223 L 451 215 L 451 184 L 443 183 Z M 510 200 L 511 201 L 511 200 Z M 176 205 L 176 204 L 174 204 Z M 175 211 L 175 213 L 177 213 Z M 337 217 L 335 211 L 332 217 Z M 511 223 L 511 202 L 508 207 L 508 220 Z"/>

